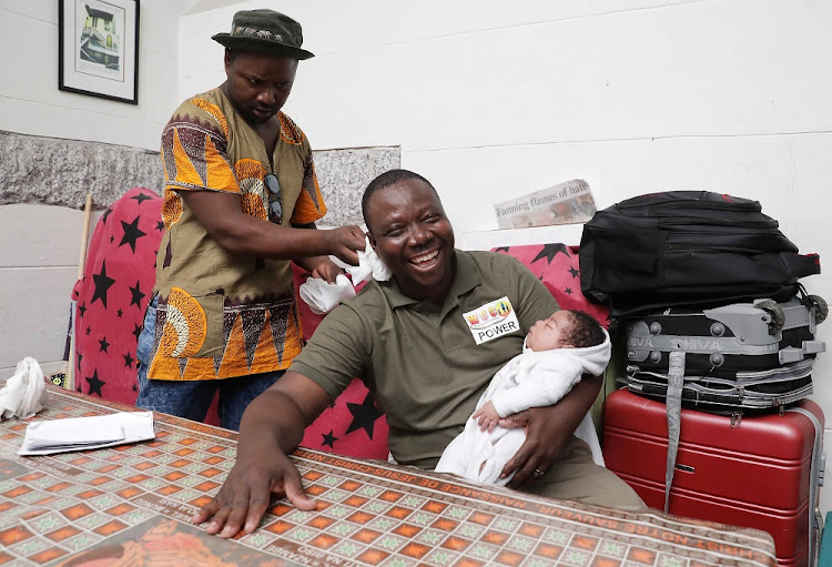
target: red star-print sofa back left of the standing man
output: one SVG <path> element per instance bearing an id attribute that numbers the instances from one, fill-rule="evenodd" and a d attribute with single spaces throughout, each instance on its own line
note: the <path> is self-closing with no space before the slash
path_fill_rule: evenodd
<path id="1" fill-rule="evenodd" d="M 135 403 L 135 345 L 155 281 L 161 209 L 151 190 L 132 189 L 95 225 L 84 276 L 72 292 L 78 392 Z"/>

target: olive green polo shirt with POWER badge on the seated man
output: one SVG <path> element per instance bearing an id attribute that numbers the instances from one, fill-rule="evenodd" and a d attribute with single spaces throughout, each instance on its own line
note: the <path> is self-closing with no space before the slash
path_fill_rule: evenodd
<path id="1" fill-rule="evenodd" d="M 371 282 L 324 318 L 292 363 L 333 399 L 361 376 L 387 414 L 390 452 L 402 464 L 433 468 L 495 373 L 520 353 L 531 325 L 558 310 L 515 257 L 459 250 L 455 257 L 456 276 L 442 306 L 404 295 L 395 280 Z M 511 330 L 511 313 L 506 317 L 506 303 L 498 303 L 490 330 L 499 326 L 503 334 L 477 344 L 475 334 L 489 328 L 473 315 L 488 313 L 484 307 L 501 297 L 519 328 Z"/>

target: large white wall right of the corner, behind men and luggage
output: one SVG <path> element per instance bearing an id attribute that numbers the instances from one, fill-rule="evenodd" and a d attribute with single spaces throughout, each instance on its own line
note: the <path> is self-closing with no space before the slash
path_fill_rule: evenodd
<path id="1" fill-rule="evenodd" d="M 260 6 L 182 18 L 181 98 L 223 80 L 209 37 Z M 457 233 L 496 229 L 494 202 L 580 178 L 599 207 L 674 189 L 758 199 L 801 251 L 832 261 L 831 2 L 268 6 L 298 19 L 317 54 L 286 107 L 313 146 L 400 145 Z M 804 283 L 832 301 L 829 275 Z M 832 351 L 832 322 L 819 331 Z M 832 355 L 815 368 L 832 416 Z"/>

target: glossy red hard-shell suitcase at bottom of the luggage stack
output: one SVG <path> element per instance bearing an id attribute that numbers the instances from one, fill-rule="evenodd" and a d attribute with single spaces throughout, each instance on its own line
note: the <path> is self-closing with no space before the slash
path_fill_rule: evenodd
<path id="1" fill-rule="evenodd" d="M 783 415 L 682 408 L 670 514 L 762 529 L 778 563 L 811 566 L 820 538 L 823 411 L 803 399 Z M 625 389 L 607 397 L 603 458 L 648 506 L 664 506 L 668 424 L 662 402 Z"/>

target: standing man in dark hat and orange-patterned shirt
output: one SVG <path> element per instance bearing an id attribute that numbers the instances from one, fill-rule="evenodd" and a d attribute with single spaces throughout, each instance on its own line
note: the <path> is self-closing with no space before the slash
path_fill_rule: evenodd
<path id="1" fill-rule="evenodd" d="M 315 230 L 326 213 L 312 149 L 283 112 L 301 24 L 273 10 L 234 14 L 226 81 L 174 112 L 162 133 L 165 232 L 155 297 L 139 337 L 145 409 L 202 421 L 220 392 L 223 427 L 301 352 L 290 261 L 333 282 L 328 254 L 357 264 L 357 226 Z"/>

